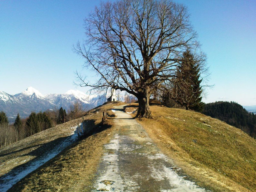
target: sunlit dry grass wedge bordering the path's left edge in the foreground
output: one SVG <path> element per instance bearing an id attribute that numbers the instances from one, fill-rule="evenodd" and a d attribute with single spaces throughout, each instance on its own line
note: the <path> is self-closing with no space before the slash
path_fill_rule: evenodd
<path id="1" fill-rule="evenodd" d="M 81 140 L 48 161 L 10 191 L 89 191 L 111 129 Z M 109 135 L 110 134 L 110 135 Z"/>

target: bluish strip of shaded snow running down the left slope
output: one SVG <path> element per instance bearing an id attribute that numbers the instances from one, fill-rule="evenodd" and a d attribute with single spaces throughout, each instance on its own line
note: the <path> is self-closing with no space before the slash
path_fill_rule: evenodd
<path id="1" fill-rule="evenodd" d="M 82 126 L 82 123 L 79 124 L 79 126 Z M 35 158 L 31 160 L 30 162 L 27 162 L 27 165 L 25 167 L 18 168 L 17 170 L 11 170 L 10 172 L 6 173 L 2 177 L 0 177 L 0 189 L 1 192 L 7 191 L 9 188 L 11 188 L 15 183 L 17 183 L 19 180 L 24 178 L 26 175 L 34 171 L 35 169 L 42 166 L 44 163 L 49 161 L 50 159 L 54 158 L 56 155 L 58 155 L 63 149 L 65 149 L 67 146 L 74 143 L 74 141 L 77 140 L 77 129 L 78 126 L 74 126 L 71 128 L 73 131 L 68 138 L 61 141 L 61 143 L 54 147 L 51 151 L 49 151 L 47 154 L 44 154 L 41 157 Z M 22 165 L 21 165 L 22 166 Z"/>

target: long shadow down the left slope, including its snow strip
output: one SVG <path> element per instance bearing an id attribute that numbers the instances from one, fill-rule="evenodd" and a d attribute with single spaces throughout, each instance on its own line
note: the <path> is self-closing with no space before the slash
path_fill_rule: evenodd
<path id="1" fill-rule="evenodd" d="M 109 129 L 111 125 L 104 124 L 100 125 L 95 124 L 94 120 L 87 120 L 86 126 L 92 126 L 92 130 L 86 134 L 83 139 L 97 134 L 103 130 Z M 82 140 L 82 139 L 79 139 Z M 0 188 L 1 191 L 17 191 L 17 188 L 25 186 L 25 178 L 28 178 L 37 168 L 47 166 L 48 163 L 54 161 L 54 157 L 64 153 L 66 150 L 72 149 L 77 145 L 77 135 L 70 135 L 58 139 L 54 139 L 50 142 L 42 144 L 37 149 L 22 154 L 21 156 L 32 156 L 33 159 L 28 160 L 26 163 L 18 165 L 12 168 L 8 173 L 0 177 Z M 22 151 L 28 148 L 27 147 L 18 151 Z M 15 151 L 15 152 L 18 152 Z M 15 153 L 13 152 L 13 153 Z M 6 154 L 5 154 L 6 155 Z"/>

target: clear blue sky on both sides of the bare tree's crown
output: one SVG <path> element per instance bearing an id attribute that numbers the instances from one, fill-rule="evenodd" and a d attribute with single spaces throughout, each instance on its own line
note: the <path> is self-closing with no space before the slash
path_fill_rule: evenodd
<path id="1" fill-rule="evenodd" d="M 191 14 L 211 80 L 205 102 L 256 105 L 256 1 L 180 0 Z M 84 60 L 72 51 L 83 19 L 100 1 L 0 0 L 0 90 L 43 94 L 75 89 Z M 86 73 L 86 70 L 84 70 Z M 87 91 L 86 88 L 78 88 Z"/>

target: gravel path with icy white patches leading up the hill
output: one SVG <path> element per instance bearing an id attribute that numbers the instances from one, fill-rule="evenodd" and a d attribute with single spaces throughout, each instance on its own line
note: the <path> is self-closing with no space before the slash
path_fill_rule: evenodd
<path id="1" fill-rule="evenodd" d="M 105 145 L 94 191 L 205 191 L 179 176 L 142 126 L 116 107 L 117 132 Z"/>

